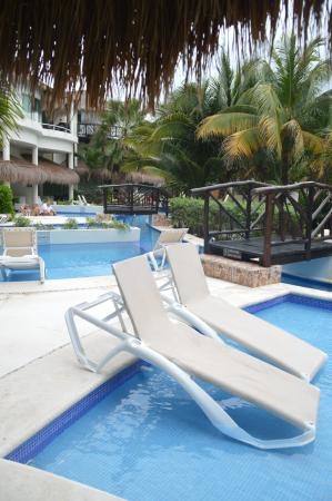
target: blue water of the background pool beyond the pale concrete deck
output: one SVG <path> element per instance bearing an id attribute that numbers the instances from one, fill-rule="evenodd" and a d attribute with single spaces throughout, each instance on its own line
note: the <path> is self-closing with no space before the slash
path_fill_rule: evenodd
<path id="1" fill-rule="evenodd" d="M 46 262 L 47 278 L 108 275 L 111 273 L 113 263 L 151 250 L 159 233 L 147 224 L 147 218 L 131 217 L 125 220 L 132 226 L 141 228 L 140 242 L 39 245 L 38 253 Z M 36 271 L 11 272 L 9 279 L 10 282 L 37 281 L 39 279 L 39 274 Z M 0 274 L 1 281 L 2 276 Z"/>

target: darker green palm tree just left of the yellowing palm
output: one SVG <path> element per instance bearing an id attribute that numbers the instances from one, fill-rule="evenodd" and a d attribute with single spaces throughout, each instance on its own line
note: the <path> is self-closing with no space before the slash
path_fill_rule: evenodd
<path id="1" fill-rule="evenodd" d="M 228 174 L 218 140 L 197 138 L 197 127 L 205 117 L 237 104 L 250 87 L 250 65 L 232 70 L 222 52 L 218 76 L 202 85 L 183 84 L 158 109 L 157 120 L 138 127 L 127 138 L 131 154 L 122 166 L 163 176 L 178 191 L 189 191 L 207 183 L 223 180 Z"/>

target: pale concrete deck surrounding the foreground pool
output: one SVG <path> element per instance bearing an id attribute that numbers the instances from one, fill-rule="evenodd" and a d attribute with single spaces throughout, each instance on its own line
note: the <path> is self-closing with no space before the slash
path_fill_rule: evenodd
<path id="1" fill-rule="evenodd" d="M 208 282 L 212 294 L 237 306 L 290 292 L 332 301 L 331 292 L 288 284 L 249 288 L 212 278 Z M 93 374 L 79 367 L 69 343 L 66 310 L 112 289 L 117 289 L 113 276 L 48 281 L 44 285 L 0 283 L 0 458 L 133 362 L 132 356 L 121 354 L 102 374 Z M 113 342 L 110 337 L 97 334 L 87 325 L 84 328 L 84 343 L 93 355 L 100 356 L 109 350 Z M 0 460 L 1 501 L 44 499 L 105 501 L 114 498 L 37 469 Z"/>

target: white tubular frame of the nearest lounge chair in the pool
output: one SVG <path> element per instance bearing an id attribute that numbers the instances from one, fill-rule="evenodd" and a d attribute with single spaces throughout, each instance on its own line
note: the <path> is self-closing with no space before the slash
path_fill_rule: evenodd
<path id="1" fill-rule="evenodd" d="M 89 313 L 95 306 L 99 306 L 105 302 L 112 302 L 114 306 L 114 312 L 107 315 L 104 318 L 100 320 L 97 316 Z M 233 419 L 215 402 L 185 371 L 179 367 L 175 363 L 171 362 L 169 358 L 164 357 L 160 353 L 151 350 L 145 343 L 143 343 L 135 335 L 127 332 L 122 313 L 124 312 L 124 303 L 122 297 L 115 293 L 103 294 L 93 302 L 81 303 L 77 306 L 70 307 L 66 313 L 66 322 L 69 331 L 69 335 L 73 345 L 73 350 L 79 363 L 84 367 L 94 373 L 101 372 L 101 370 L 108 364 L 112 358 L 114 358 L 119 353 L 125 352 L 133 356 L 143 360 L 152 364 L 153 366 L 165 372 L 168 375 L 173 377 L 182 389 L 192 397 L 192 400 L 199 405 L 203 411 L 208 420 L 224 435 L 234 439 L 237 441 L 247 443 L 258 449 L 284 449 L 284 448 L 296 448 L 305 445 L 312 442 L 315 438 L 315 426 L 308 423 L 308 429 L 301 434 L 290 438 L 290 439 L 278 439 L 278 440 L 262 440 L 258 439 L 244 429 L 239 426 Z M 173 312 L 174 313 L 174 312 Z M 76 323 L 76 318 L 84 320 L 91 325 L 98 327 L 99 330 L 114 336 L 120 342 L 119 344 L 110 350 L 110 352 L 100 361 L 93 362 L 87 356 L 87 353 L 82 346 L 79 336 L 79 330 Z M 109 321 L 118 317 L 121 330 L 110 324 Z M 200 327 L 205 330 L 205 334 L 210 335 L 211 328 L 201 322 Z M 213 334 L 212 334 L 213 335 Z"/>

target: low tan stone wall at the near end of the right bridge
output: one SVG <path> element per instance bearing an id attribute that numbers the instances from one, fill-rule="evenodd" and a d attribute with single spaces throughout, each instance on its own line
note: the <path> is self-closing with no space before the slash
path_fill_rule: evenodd
<path id="1" fill-rule="evenodd" d="M 281 266 L 263 268 L 254 263 L 232 261 L 210 254 L 202 254 L 201 258 L 207 276 L 247 287 L 278 284 L 281 278 Z"/>

